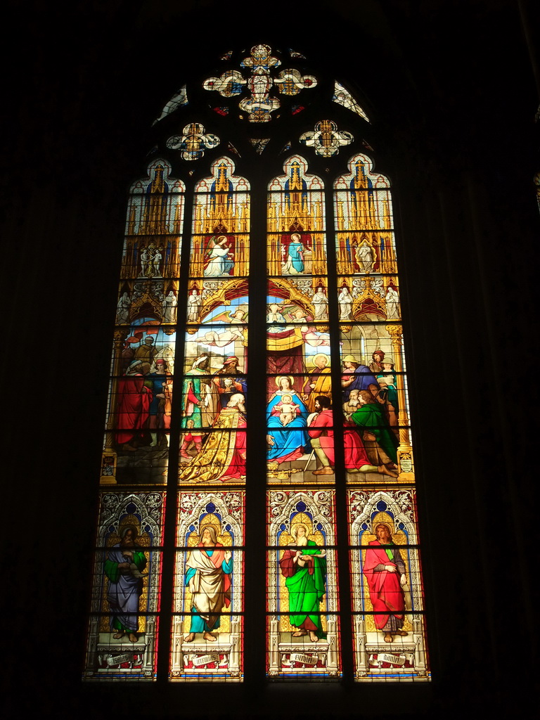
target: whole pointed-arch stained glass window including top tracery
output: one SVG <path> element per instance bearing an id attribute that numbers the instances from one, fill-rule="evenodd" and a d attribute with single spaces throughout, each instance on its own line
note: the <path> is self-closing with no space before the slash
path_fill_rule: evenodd
<path id="1" fill-rule="evenodd" d="M 153 132 L 85 678 L 428 679 L 392 195 L 361 102 L 255 45 Z"/>

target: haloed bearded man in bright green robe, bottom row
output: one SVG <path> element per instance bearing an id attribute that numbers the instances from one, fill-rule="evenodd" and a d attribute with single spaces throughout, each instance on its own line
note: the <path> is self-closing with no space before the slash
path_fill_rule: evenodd
<path id="1" fill-rule="evenodd" d="M 297 628 L 293 637 L 309 634 L 311 642 L 323 636 L 320 604 L 325 594 L 326 552 L 307 539 L 307 528 L 300 523 L 292 528 L 294 542 L 279 561 L 289 590 L 289 621 Z"/>

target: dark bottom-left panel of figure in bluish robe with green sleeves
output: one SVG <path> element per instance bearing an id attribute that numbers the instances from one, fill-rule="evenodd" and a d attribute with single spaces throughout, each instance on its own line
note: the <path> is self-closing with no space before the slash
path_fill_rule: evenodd
<path id="1" fill-rule="evenodd" d="M 153 680 L 163 492 L 102 492 L 84 678 Z"/>

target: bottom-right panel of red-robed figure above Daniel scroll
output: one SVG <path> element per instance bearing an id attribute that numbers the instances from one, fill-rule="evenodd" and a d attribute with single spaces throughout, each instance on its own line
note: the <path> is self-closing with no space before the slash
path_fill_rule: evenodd
<path id="1" fill-rule="evenodd" d="M 427 680 L 415 490 L 349 490 L 357 680 Z"/>

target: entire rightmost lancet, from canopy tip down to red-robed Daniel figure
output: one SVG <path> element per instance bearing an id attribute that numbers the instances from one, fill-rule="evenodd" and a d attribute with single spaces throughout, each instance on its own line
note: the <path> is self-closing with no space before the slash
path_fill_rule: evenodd
<path id="1" fill-rule="evenodd" d="M 405 354 L 388 179 L 365 155 L 334 184 L 343 416 L 361 439 L 346 469 L 357 680 L 425 680 Z M 405 487 L 402 487 L 405 486 Z"/>

